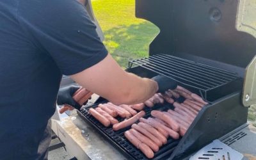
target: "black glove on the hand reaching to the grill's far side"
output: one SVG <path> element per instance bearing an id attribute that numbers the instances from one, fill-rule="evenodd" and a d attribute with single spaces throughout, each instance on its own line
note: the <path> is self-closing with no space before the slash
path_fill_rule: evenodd
<path id="1" fill-rule="evenodd" d="M 156 77 L 152 77 L 152 80 L 157 82 L 157 92 L 159 93 L 164 93 L 168 89 L 174 90 L 175 88 L 177 88 L 177 82 L 165 76 L 158 75 Z"/>

